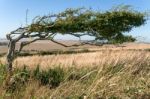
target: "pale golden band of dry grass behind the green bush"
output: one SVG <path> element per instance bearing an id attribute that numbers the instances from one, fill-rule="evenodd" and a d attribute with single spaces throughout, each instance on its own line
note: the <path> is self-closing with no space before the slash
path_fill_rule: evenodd
<path id="1" fill-rule="evenodd" d="M 64 54 L 64 55 L 47 55 L 47 56 L 27 56 L 19 57 L 15 60 L 14 66 L 22 67 L 24 65 L 34 68 L 40 65 L 42 68 L 61 66 L 61 67 L 93 67 L 103 66 L 106 64 L 127 62 L 134 64 L 141 62 L 142 59 L 150 57 L 149 52 L 145 51 L 122 51 L 122 50 L 105 50 L 91 53 Z M 1 59 L 5 61 L 5 59 Z M 130 62 L 129 62 L 130 61 Z"/>

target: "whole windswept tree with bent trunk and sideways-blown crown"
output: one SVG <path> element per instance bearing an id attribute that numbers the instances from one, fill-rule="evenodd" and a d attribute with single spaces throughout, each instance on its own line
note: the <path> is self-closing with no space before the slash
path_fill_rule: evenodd
<path id="1" fill-rule="evenodd" d="M 12 63 L 17 53 L 20 53 L 24 46 L 37 40 L 50 40 L 64 47 L 65 44 L 57 42 L 54 37 L 57 34 L 70 34 L 75 37 L 85 35 L 95 37 L 94 41 L 106 40 L 109 43 L 123 43 L 135 41 L 132 36 L 124 33 L 139 27 L 146 22 L 145 14 L 130 9 L 114 9 L 100 12 L 84 8 L 66 9 L 64 12 L 46 16 L 37 16 L 33 22 L 26 27 L 7 34 L 9 49 L 7 53 L 7 70 L 12 71 Z M 28 38 L 32 38 L 29 40 Z M 27 39 L 26 41 L 22 39 Z M 16 43 L 20 41 L 19 50 L 15 50 Z M 81 45 L 89 42 L 81 42 Z M 92 43 L 89 43 L 92 44 Z M 79 46 L 79 45 L 72 45 Z"/>

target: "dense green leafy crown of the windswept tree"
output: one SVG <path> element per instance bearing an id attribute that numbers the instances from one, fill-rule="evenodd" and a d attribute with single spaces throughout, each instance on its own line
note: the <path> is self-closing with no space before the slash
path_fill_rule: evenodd
<path id="1" fill-rule="evenodd" d="M 70 34 L 76 37 L 82 35 L 94 36 L 96 40 L 108 40 L 113 43 L 133 42 L 130 32 L 146 22 L 144 13 L 129 9 L 129 6 L 116 7 L 114 10 L 100 12 L 84 8 L 66 9 L 64 12 L 36 17 L 29 26 L 29 32 L 51 32 Z"/>

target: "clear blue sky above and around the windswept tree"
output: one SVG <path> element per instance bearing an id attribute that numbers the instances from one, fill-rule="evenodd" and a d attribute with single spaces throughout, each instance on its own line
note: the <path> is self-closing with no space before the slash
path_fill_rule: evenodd
<path id="1" fill-rule="evenodd" d="M 26 10 L 28 9 L 28 24 L 38 15 L 58 13 L 66 8 L 92 8 L 94 10 L 109 10 L 120 4 L 132 5 L 138 11 L 150 11 L 150 0 L 0 0 L 0 38 L 20 26 L 26 25 Z M 150 21 L 141 27 L 134 28 L 129 34 L 141 41 L 150 42 Z M 58 36 L 57 39 L 75 39 L 70 36 Z M 83 37 L 83 39 L 90 39 Z"/>

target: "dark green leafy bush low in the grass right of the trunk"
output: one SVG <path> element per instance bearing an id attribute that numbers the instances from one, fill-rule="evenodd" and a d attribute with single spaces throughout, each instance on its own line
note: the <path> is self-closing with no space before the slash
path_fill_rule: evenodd
<path id="1" fill-rule="evenodd" d="M 42 85 L 49 85 L 51 88 L 59 86 L 64 80 L 64 71 L 60 67 L 40 71 L 39 66 L 33 71 L 33 77 L 40 80 Z"/>

